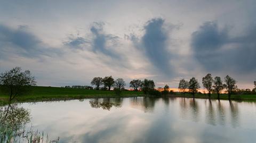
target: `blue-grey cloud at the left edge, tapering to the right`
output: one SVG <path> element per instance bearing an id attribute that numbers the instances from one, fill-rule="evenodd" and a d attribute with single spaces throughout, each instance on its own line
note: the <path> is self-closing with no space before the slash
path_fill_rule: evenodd
<path id="1" fill-rule="evenodd" d="M 12 29 L 0 24 L 0 44 L 1 57 L 10 53 L 29 58 L 61 54 L 59 49 L 47 46 L 24 26 Z"/>

